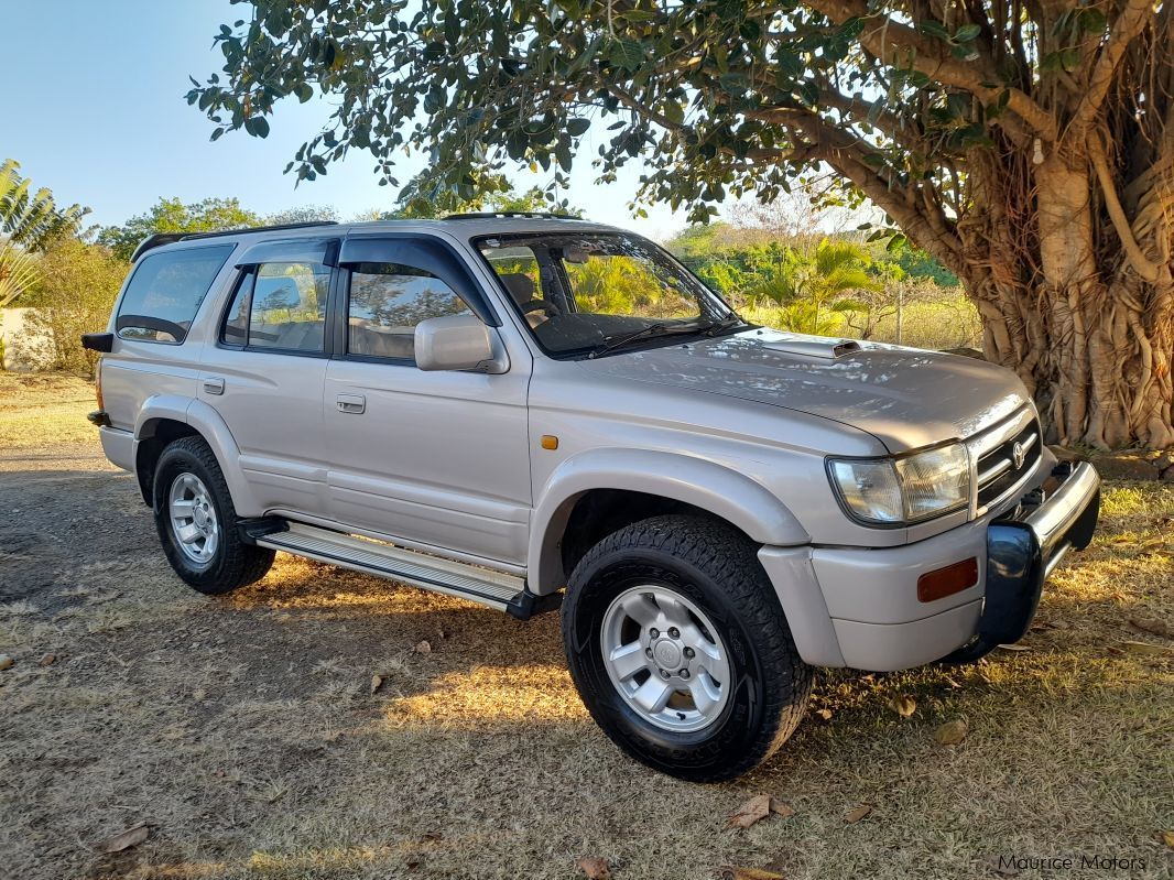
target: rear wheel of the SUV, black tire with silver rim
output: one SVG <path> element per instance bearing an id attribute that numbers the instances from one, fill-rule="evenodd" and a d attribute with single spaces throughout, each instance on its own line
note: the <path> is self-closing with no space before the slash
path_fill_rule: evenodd
<path id="1" fill-rule="evenodd" d="M 173 492 L 174 500 L 193 505 L 193 515 L 183 520 L 185 526 L 177 526 L 173 516 L 181 509 L 173 508 Z M 184 436 L 163 449 L 155 466 L 151 499 L 167 561 L 200 593 L 229 593 L 259 581 L 274 564 L 272 550 L 241 540 L 228 483 L 203 438 Z M 182 541 L 178 534 L 188 526 L 200 533 L 193 542 Z"/>

